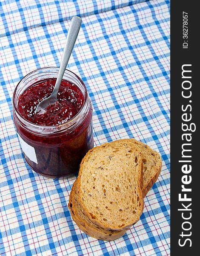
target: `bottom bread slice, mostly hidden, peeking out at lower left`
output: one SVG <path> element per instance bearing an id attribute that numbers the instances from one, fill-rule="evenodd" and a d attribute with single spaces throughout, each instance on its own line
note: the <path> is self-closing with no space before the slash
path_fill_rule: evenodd
<path id="1" fill-rule="evenodd" d="M 69 195 L 69 210 L 71 216 L 77 226 L 87 235 L 94 237 L 100 240 L 112 241 L 123 236 L 126 233 L 126 230 L 105 230 L 102 227 L 94 224 L 83 212 L 83 209 L 80 207 L 78 201 L 78 187 L 77 179 L 74 181 L 74 184 L 71 188 Z"/>

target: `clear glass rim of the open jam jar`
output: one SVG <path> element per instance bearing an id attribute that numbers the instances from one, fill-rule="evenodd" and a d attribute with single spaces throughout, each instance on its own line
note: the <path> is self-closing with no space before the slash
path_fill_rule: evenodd
<path id="1" fill-rule="evenodd" d="M 33 122 L 30 122 L 27 119 L 25 119 L 21 115 L 21 113 L 18 111 L 18 108 L 17 108 L 17 102 L 16 102 L 17 89 L 18 89 L 19 85 L 23 82 L 23 80 L 26 79 L 28 76 L 34 75 L 35 73 L 40 72 L 40 71 L 44 71 L 43 74 L 45 74 L 45 72 L 47 72 L 48 69 L 49 69 L 49 71 L 52 71 L 52 72 L 56 71 L 56 73 L 58 73 L 59 67 L 41 67 L 39 69 L 36 69 L 36 70 L 33 70 L 33 71 L 29 72 L 28 74 L 26 74 L 26 76 L 24 76 L 18 82 L 17 86 L 14 89 L 14 93 L 13 93 L 13 102 L 12 103 L 13 103 L 13 109 L 14 109 L 15 113 L 17 114 L 17 117 L 20 119 L 21 122 L 23 122 L 24 125 L 28 125 L 29 130 L 34 131 L 34 132 L 37 132 L 38 129 L 39 129 L 40 131 L 43 131 L 43 132 L 45 130 L 48 130 L 45 133 L 56 133 L 56 132 L 60 132 L 60 131 L 63 131 L 63 130 L 69 129 L 69 128 L 73 128 L 77 119 L 79 119 L 80 116 L 84 115 L 84 111 L 87 109 L 87 107 L 88 107 L 87 105 L 89 104 L 89 95 L 88 95 L 88 92 L 87 92 L 87 89 L 86 89 L 86 86 L 85 86 L 83 80 L 80 79 L 80 77 L 77 76 L 71 70 L 66 69 L 64 75 L 70 75 L 71 74 L 75 79 L 77 79 L 80 82 L 80 84 L 83 86 L 83 89 L 84 89 L 84 91 L 82 91 L 81 88 L 78 86 L 78 84 L 74 83 L 80 88 L 80 90 L 82 91 L 83 96 L 84 96 L 83 105 L 81 106 L 78 113 L 75 116 L 73 116 L 71 119 L 69 119 L 66 122 L 64 122 L 63 124 L 59 124 L 59 125 L 38 125 L 38 124 L 34 124 Z M 42 74 L 42 73 L 40 73 L 40 74 Z M 54 78 L 54 77 L 52 77 L 52 78 Z"/>

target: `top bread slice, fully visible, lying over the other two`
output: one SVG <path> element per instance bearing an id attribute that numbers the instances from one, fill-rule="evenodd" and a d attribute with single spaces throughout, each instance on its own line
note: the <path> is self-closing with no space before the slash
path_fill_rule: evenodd
<path id="1" fill-rule="evenodd" d="M 135 143 L 116 141 L 89 150 L 78 175 L 85 215 L 107 230 L 131 227 L 143 212 L 142 174 L 141 151 Z"/>

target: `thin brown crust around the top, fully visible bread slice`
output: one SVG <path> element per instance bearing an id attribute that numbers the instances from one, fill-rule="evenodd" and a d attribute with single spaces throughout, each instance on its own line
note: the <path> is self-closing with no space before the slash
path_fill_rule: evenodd
<path id="1" fill-rule="evenodd" d="M 117 141 L 116 141 L 115 143 L 116 143 L 116 145 L 119 146 L 119 143 L 117 143 Z M 86 208 L 86 206 L 85 206 L 85 204 L 84 204 L 84 202 L 83 202 L 83 200 L 82 200 L 82 198 L 81 198 L 82 192 L 81 192 L 80 177 L 81 177 L 81 175 L 82 175 L 83 163 L 84 163 L 84 161 L 87 159 L 87 157 L 91 154 L 92 151 L 96 150 L 97 148 L 102 148 L 102 147 L 105 147 L 106 145 L 110 145 L 110 144 L 111 144 L 111 143 L 105 143 L 105 144 L 102 144 L 102 145 L 97 146 L 97 147 L 95 147 L 95 148 L 92 148 L 91 150 L 89 150 L 89 152 L 88 152 L 88 153 L 86 154 L 86 156 L 83 158 L 83 160 L 82 160 L 82 162 L 81 162 L 81 164 L 80 164 L 80 171 L 79 171 L 79 175 L 78 175 L 78 177 L 79 177 L 79 179 L 78 179 L 79 202 L 80 202 L 80 205 L 81 205 L 81 207 L 82 207 L 82 209 L 83 209 L 84 214 L 85 214 L 94 224 L 96 224 L 96 225 L 98 225 L 98 226 L 100 226 L 100 227 L 102 227 L 102 228 L 104 228 L 104 229 L 106 229 L 106 230 L 110 230 L 110 229 L 112 229 L 112 230 L 124 230 L 124 229 L 129 229 L 133 224 L 135 224 L 137 221 L 139 221 L 140 216 L 141 216 L 141 214 L 142 214 L 142 212 L 143 212 L 144 204 L 143 204 L 143 193 L 142 193 L 142 189 L 141 189 L 141 186 L 142 186 L 142 184 L 143 184 L 143 178 L 142 178 L 142 177 L 143 177 L 142 161 L 141 161 L 141 163 L 140 163 L 140 164 L 141 164 L 141 167 L 140 167 L 140 170 L 139 170 L 140 173 L 139 173 L 139 175 L 137 176 L 137 184 L 139 184 L 139 186 L 137 187 L 137 193 L 138 193 L 138 195 L 139 195 L 139 200 L 140 200 L 140 212 L 139 212 L 139 214 L 138 214 L 138 218 L 137 218 L 137 219 L 134 219 L 134 221 L 130 221 L 129 224 L 126 224 L 126 226 L 121 227 L 121 228 L 118 228 L 118 227 L 115 227 L 115 226 L 111 227 L 110 225 L 104 225 L 104 224 L 102 224 L 100 221 L 98 221 L 97 219 L 92 218 L 90 212 L 89 212 L 88 209 Z M 112 143 L 112 144 L 114 144 L 114 143 Z M 130 143 L 130 144 L 131 144 L 131 143 Z M 129 144 L 129 145 L 130 145 L 130 144 Z M 137 147 L 137 145 L 135 145 L 135 143 L 133 143 L 133 145 L 134 145 L 135 148 L 137 148 L 137 151 L 139 152 L 139 154 L 140 154 L 140 156 L 141 156 L 141 151 L 140 151 L 140 149 Z M 121 143 L 120 143 L 120 146 L 121 146 Z M 134 222 L 134 223 L 133 223 L 133 222 Z"/>

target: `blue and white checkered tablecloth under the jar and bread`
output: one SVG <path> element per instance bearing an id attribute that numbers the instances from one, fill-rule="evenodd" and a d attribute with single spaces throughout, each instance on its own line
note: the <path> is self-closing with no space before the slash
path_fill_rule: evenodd
<path id="1" fill-rule="evenodd" d="M 0 255 L 169 255 L 169 1 L 0 1 Z M 134 137 L 159 151 L 163 169 L 140 221 L 100 241 L 72 221 L 75 176 L 52 180 L 23 158 L 12 121 L 18 81 L 59 66 L 71 17 L 83 23 L 69 69 L 93 105 L 94 145 Z"/>

